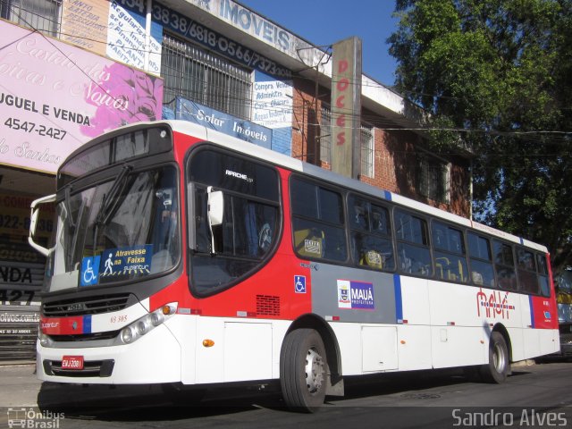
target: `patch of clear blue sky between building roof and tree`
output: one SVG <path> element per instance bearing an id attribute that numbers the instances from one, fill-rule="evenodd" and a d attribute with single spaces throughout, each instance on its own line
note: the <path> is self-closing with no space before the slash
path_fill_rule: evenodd
<path id="1" fill-rule="evenodd" d="M 385 43 L 398 23 L 391 17 L 394 0 L 239 1 L 316 46 L 361 38 L 363 72 L 386 86 L 394 84 L 396 62 Z"/>

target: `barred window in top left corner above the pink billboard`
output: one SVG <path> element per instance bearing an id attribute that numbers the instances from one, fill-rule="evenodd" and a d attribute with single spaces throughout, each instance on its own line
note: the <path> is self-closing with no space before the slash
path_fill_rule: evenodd
<path id="1" fill-rule="evenodd" d="M 56 37 L 62 0 L 1 0 L 0 15 L 29 29 Z"/>

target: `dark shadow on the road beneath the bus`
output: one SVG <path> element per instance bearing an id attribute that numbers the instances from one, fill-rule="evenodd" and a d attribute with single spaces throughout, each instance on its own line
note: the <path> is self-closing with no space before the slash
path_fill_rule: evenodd
<path id="1" fill-rule="evenodd" d="M 526 374 L 526 371 L 519 370 L 513 374 Z M 411 399 L 416 396 L 415 391 L 473 382 L 474 374 L 460 369 L 348 377 L 344 398 L 328 397 L 326 406 L 341 405 L 343 400 L 400 392 L 403 392 L 404 399 Z M 434 398 L 427 393 L 419 395 Z M 176 421 L 264 408 L 286 410 L 278 385 L 271 386 L 269 391 L 253 391 L 244 387 L 217 388 L 207 391 L 201 402 L 192 399 L 186 402 L 184 395 L 178 399 L 174 405 L 172 396 L 165 396 L 157 385 L 43 383 L 38 392 L 38 407 L 65 413 L 67 418 L 119 422 Z"/>

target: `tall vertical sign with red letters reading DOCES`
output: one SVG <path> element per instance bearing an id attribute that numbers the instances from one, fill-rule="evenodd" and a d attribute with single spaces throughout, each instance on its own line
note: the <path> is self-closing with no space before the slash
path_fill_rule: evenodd
<path id="1" fill-rule="evenodd" d="M 333 45 L 332 171 L 359 174 L 361 125 L 361 40 L 347 38 Z"/>

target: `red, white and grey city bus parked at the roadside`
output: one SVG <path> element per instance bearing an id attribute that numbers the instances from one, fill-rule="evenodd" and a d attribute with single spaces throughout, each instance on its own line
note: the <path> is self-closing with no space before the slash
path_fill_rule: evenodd
<path id="1" fill-rule="evenodd" d="M 127 126 L 56 180 L 30 227 L 42 380 L 279 382 L 312 411 L 344 376 L 476 366 L 501 383 L 559 349 L 545 247 L 217 131 Z"/>

